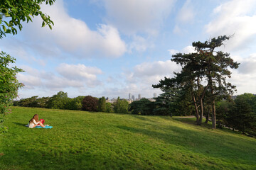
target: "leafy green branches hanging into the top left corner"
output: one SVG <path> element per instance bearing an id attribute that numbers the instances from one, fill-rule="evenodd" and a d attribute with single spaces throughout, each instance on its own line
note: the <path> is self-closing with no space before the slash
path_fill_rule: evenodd
<path id="1" fill-rule="evenodd" d="M 42 27 L 48 25 L 52 29 L 53 21 L 50 16 L 41 11 L 41 4 L 52 5 L 55 0 L 0 0 L 0 39 L 6 33 L 17 34 L 22 29 L 22 22 L 32 22 L 31 16 L 41 16 Z"/>

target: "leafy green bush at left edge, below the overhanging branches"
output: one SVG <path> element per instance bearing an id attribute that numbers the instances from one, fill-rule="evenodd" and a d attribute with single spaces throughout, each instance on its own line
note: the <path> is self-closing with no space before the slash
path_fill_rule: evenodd
<path id="1" fill-rule="evenodd" d="M 0 132 L 6 131 L 1 123 L 4 122 L 4 115 L 9 113 L 14 98 L 18 96 L 18 89 L 23 86 L 16 79 L 18 72 L 23 72 L 16 66 L 10 67 L 10 64 L 15 62 L 14 57 L 7 55 L 5 52 L 0 52 Z"/>

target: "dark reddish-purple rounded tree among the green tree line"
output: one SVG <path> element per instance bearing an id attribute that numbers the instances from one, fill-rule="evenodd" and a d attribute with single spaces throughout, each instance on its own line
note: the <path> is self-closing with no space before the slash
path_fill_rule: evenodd
<path id="1" fill-rule="evenodd" d="M 82 111 L 97 111 L 98 98 L 85 96 L 82 99 Z"/>

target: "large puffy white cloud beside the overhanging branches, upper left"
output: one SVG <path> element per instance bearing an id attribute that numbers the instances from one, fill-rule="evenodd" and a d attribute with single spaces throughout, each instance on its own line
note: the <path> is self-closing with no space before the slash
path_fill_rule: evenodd
<path id="1" fill-rule="evenodd" d="M 41 18 L 35 18 L 24 31 L 39 47 L 43 44 L 48 50 L 65 50 L 79 57 L 120 57 L 127 50 L 117 28 L 99 24 L 97 30 L 91 30 L 84 21 L 68 15 L 63 0 L 53 6 L 42 6 L 42 10 L 53 20 L 53 30 L 40 28 Z M 37 43 L 35 37 L 41 41 Z"/>

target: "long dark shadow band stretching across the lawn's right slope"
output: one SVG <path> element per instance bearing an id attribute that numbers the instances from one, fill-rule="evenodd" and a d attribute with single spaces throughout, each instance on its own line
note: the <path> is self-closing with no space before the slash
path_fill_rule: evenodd
<path id="1" fill-rule="evenodd" d="M 184 148 L 184 152 L 189 151 L 230 161 L 237 159 L 242 164 L 245 162 L 247 164 L 255 164 L 255 162 L 251 161 L 253 160 L 252 158 L 250 160 L 247 159 L 247 152 L 250 152 L 250 149 L 256 145 L 256 142 L 245 141 L 240 137 L 220 135 L 214 131 L 213 133 L 207 133 L 188 130 L 172 125 L 166 125 L 166 128 L 154 125 L 154 130 L 127 126 L 117 126 L 117 128 L 164 140 L 166 143 L 176 145 L 177 148 Z M 247 142 L 250 146 L 243 147 L 244 142 Z M 256 160 L 256 154 L 251 155 L 251 157 L 255 157 Z"/>

